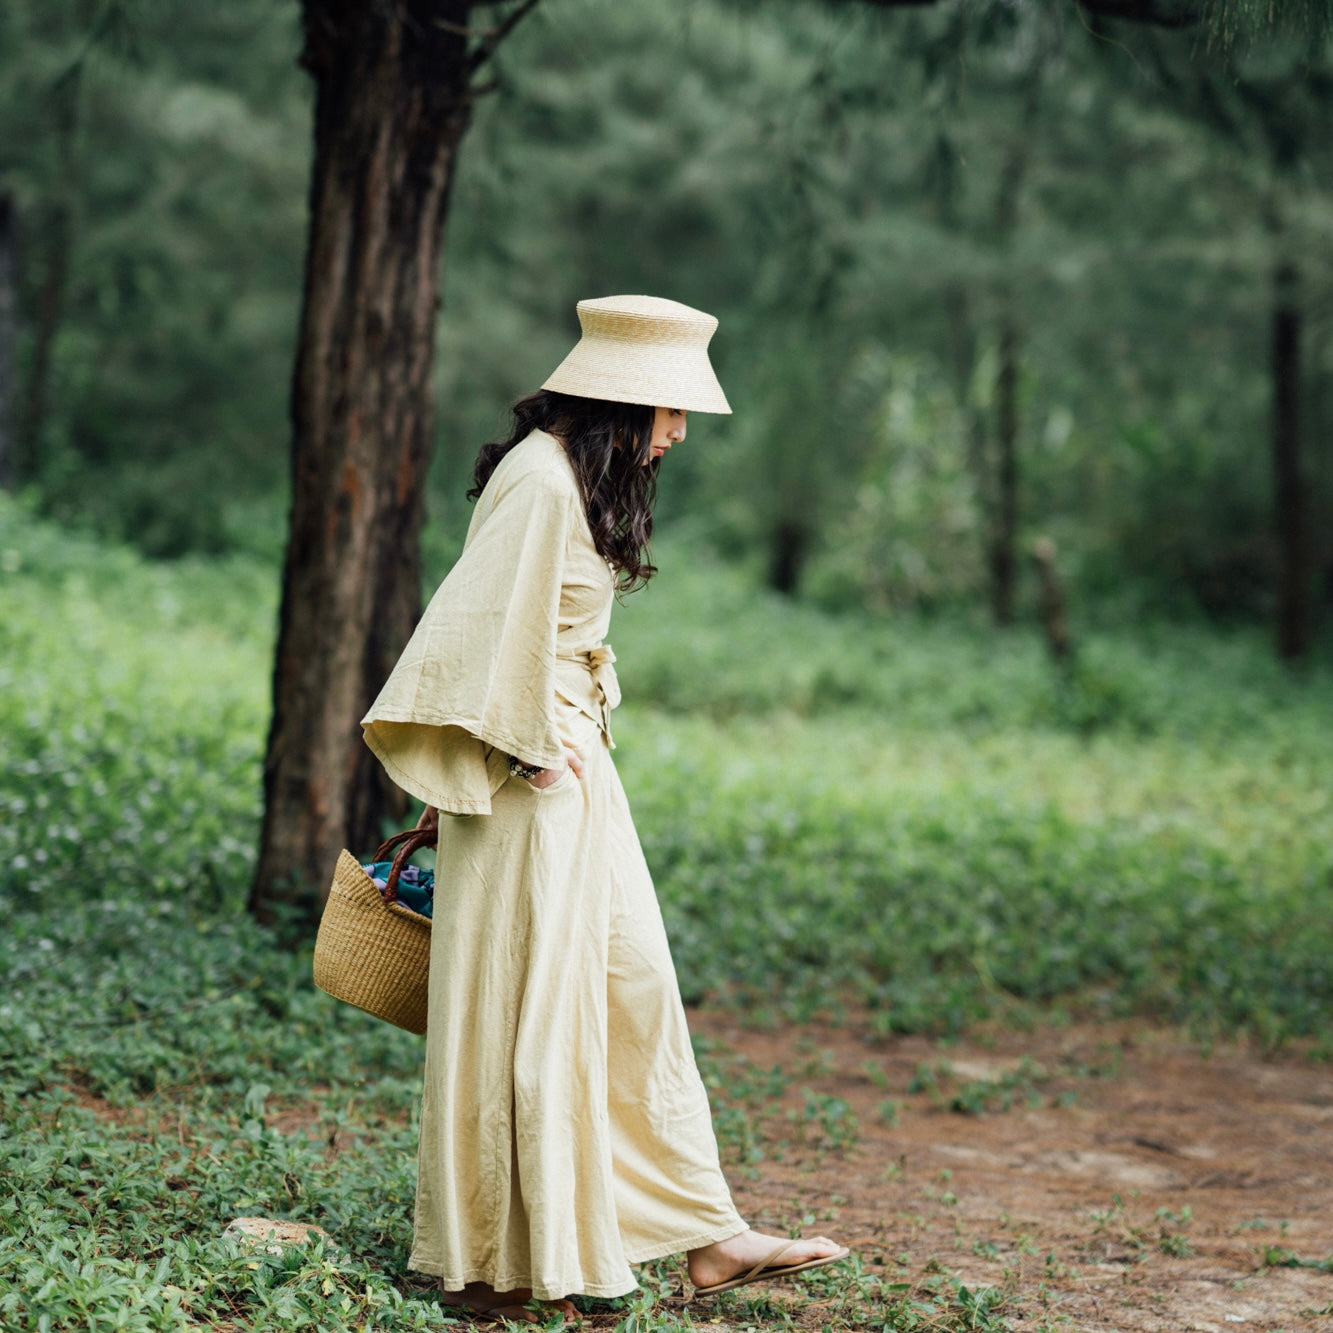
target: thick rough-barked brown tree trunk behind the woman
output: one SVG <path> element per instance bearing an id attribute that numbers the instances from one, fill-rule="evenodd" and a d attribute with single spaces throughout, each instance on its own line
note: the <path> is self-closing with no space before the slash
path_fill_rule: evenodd
<path id="1" fill-rule="evenodd" d="M 305 0 L 315 165 L 292 512 L 251 910 L 313 917 L 339 849 L 405 798 L 360 718 L 420 615 L 444 217 L 471 111 L 469 0 Z M 475 61 L 473 61 L 475 64 Z"/>

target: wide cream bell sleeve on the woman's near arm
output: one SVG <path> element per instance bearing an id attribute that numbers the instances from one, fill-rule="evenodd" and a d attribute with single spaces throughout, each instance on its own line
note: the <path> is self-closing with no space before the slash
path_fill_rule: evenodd
<path id="1" fill-rule="evenodd" d="M 569 539 L 585 520 L 568 463 L 553 463 L 496 471 L 459 563 L 361 721 L 389 777 L 452 814 L 491 812 L 509 754 L 565 762 L 556 632 Z"/>

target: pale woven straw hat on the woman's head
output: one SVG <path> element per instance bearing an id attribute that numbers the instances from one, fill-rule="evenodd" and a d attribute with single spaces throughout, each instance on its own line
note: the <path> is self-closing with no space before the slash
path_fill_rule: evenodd
<path id="1" fill-rule="evenodd" d="M 708 360 L 712 315 L 660 296 L 601 296 L 579 303 L 583 337 L 544 389 L 609 403 L 685 412 L 730 404 Z"/>

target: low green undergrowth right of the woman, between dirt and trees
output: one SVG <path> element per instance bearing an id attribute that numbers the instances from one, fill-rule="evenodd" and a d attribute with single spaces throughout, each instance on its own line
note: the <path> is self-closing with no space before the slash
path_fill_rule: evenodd
<path id="1" fill-rule="evenodd" d="M 1065 680 L 1029 636 L 680 563 L 615 635 L 631 697 L 676 714 L 617 734 L 686 993 L 885 1030 L 1053 1000 L 1320 1030 L 1326 674 L 1174 631 L 1090 641 Z"/>

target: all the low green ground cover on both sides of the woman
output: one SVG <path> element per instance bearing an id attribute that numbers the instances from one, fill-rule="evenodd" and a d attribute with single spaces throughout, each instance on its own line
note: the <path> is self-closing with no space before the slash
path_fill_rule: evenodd
<path id="1" fill-rule="evenodd" d="M 1157 625 L 1085 627 L 1062 676 L 1024 632 L 829 617 L 685 545 L 661 563 L 617 613 L 617 761 L 689 1000 L 869 1040 L 1152 1018 L 1328 1054 L 1326 672 Z M 5 503 L 0 580 L 0 1326 L 439 1325 L 403 1274 L 419 1042 L 315 992 L 308 949 L 241 910 L 272 572 L 152 565 Z M 853 1149 L 817 1069 L 702 1058 L 736 1166 Z M 960 1113 L 1046 1097 L 1034 1068 L 921 1077 Z M 882 1089 L 877 1114 L 906 1096 Z M 794 1120 L 758 1113 L 782 1097 Z M 241 1214 L 333 1240 L 251 1252 L 221 1237 Z M 592 1317 L 681 1322 L 674 1280 L 657 1265 Z M 852 1286 L 828 1322 L 1022 1309 L 948 1272 Z M 761 1296 L 725 1317 L 792 1314 Z"/>

